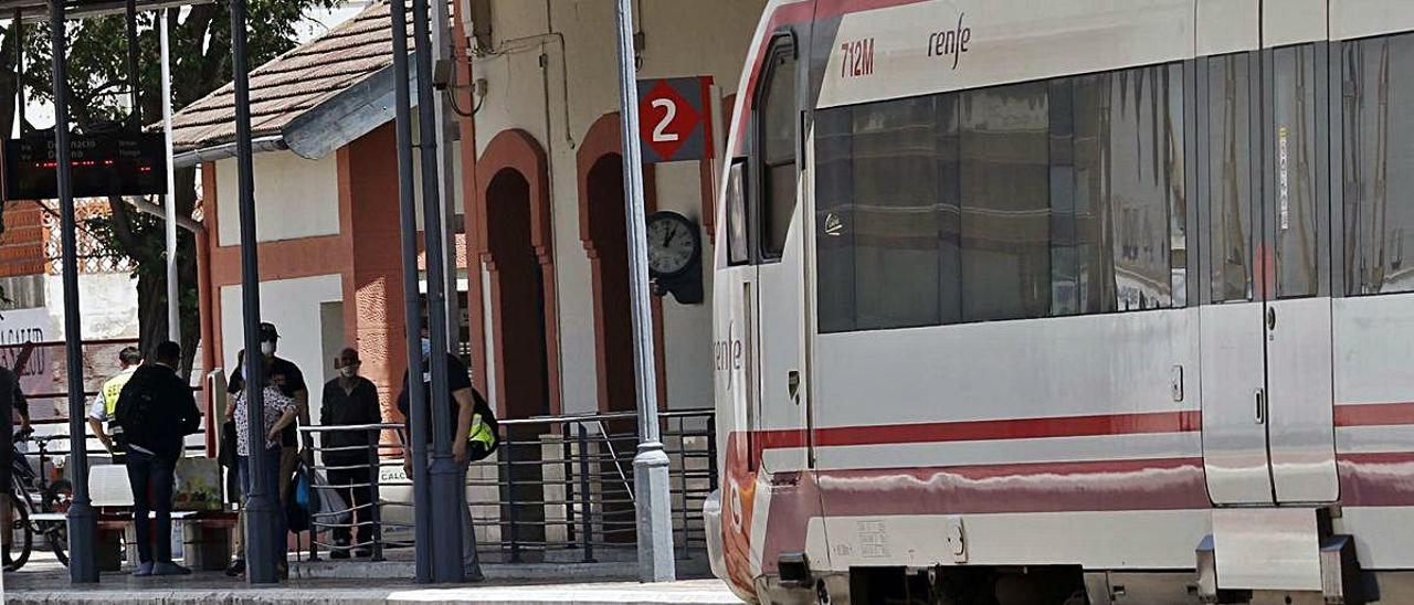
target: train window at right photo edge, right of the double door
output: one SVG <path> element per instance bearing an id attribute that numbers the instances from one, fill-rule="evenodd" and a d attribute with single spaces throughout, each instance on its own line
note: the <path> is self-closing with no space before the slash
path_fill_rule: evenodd
<path id="1" fill-rule="evenodd" d="M 1346 294 L 1414 291 L 1414 34 L 1342 55 Z"/>

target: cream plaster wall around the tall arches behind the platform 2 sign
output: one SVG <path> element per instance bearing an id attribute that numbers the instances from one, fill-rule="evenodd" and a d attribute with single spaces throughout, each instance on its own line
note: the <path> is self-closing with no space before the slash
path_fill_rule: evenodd
<path id="1" fill-rule="evenodd" d="M 711 75 L 724 95 L 732 93 L 764 4 L 764 0 L 642 3 L 636 23 L 646 47 L 638 76 Z M 598 406 L 594 291 L 580 242 L 575 151 L 600 116 L 618 110 L 614 27 L 614 4 L 601 0 L 556 0 L 549 7 L 498 1 L 492 14 L 496 48 L 472 65 L 475 76 L 489 83 L 477 113 L 478 150 L 484 151 L 502 130 L 523 129 L 546 148 L 550 160 L 566 413 Z M 564 51 L 559 35 L 546 35 L 551 31 L 563 35 Z M 547 55 L 543 74 L 542 52 Z M 656 194 L 660 209 L 701 221 L 697 163 L 660 164 Z M 704 263 L 710 266 L 710 260 L 708 246 Z M 704 286 L 710 288 L 711 276 L 706 273 Z M 669 297 L 663 307 L 669 404 L 710 407 L 710 305 L 680 305 Z"/>

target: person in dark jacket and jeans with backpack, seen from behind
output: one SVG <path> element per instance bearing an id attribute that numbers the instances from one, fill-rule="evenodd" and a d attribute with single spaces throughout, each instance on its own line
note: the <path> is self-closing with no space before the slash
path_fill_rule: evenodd
<path id="1" fill-rule="evenodd" d="M 133 488 L 133 523 L 137 530 L 137 571 L 133 575 L 185 575 L 191 570 L 173 563 L 173 481 L 182 441 L 201 427 L 201 411 L 191 384 L 177 375 L 181 345 L 157 345 L 153 362 L 133 372 L 113 410 L 123 427 L 127 481 Z M 154 520 L 148 522 L 148 510 Z M 153 527 L 156 526 L 156 533 Z"/>

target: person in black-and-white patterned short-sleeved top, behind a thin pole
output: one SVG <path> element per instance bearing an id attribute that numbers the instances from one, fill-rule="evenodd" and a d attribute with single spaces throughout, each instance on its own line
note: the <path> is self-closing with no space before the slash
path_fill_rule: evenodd
<path id="1" fill-rule="evenodd" d="M 246 392 L 240 390 L 236 393 L 236 404 L 232 407 L 232 418 L 236 421 L 236 474 L 240 476 L 240 493 L 246 500 L 250 499 L 250 483 L 252 474 L 259 472 L 264 479 L 264 485 L 274 486 L 279 483 L 280 475 L 280 435 L 287 427 L 294 425 L 296 416 L 298 414 L 298 404 L 293 397 L 284 394 L 276 384 L 266 384 L 263 397 L 264 409 L 255 413 L 260 414 L 262 434 L 259 437 L 250 434 L 250 416 L 253 411 L 249 410 L 246 401 Z M 259 440 L 259 441 L 257 441 Z M 264 455 L 260 458 L 260 466 L 255 466 L 250 462 L 252 451 L 256 447 L 264 448 Z M 288 563 L 286 561 L 287 541 L 286 541 L 286 516 L 281 509 L 274 517 L 274 524 L 259 527 L 253 523 L 245 524 L 246 531 L 269 531 L 271 544 L 271 557 L 274 558 L 276 568 L 280 577 L 288 575 Z M 250 544 L 250 540 L 242 540 L 245 544 Z M 249 553 L 246 553 L 249 556 Z M 242 564 L 242 570 L 245 565 Z"/>

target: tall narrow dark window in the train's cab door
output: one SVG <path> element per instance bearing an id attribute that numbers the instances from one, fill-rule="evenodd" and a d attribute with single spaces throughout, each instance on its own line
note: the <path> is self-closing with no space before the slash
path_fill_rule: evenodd
<path id="1" fill-rule="evenodd" d="M 766 52 L 756 99 L 759 252 L 781 259 L 796 205 L 796 49 L 790 35 L 778 35 Z"/>

